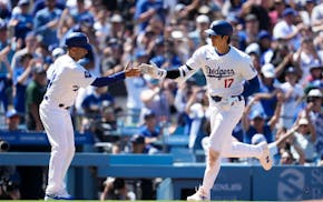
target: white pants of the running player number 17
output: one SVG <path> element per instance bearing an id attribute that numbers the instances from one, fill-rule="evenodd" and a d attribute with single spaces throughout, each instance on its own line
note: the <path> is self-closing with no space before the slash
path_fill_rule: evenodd
<path id="1" fill-rule="evenodd" d="M 260 156 L 262 150 L 256 145 L 232 141 L 232 132 L 243 115 L 245 101 L 235 101 L 229 108 L 223 108 L 221 103 L 212 103 L 209 150 L 219 153 L 218 159 L 211 168 L 206 163 L 203 179 L 203 188 L 211 190 L 219 172 L 222 156 L 229 158 L 251 158 Z M 208 159 L 207 159 L 208 161 Z"/>

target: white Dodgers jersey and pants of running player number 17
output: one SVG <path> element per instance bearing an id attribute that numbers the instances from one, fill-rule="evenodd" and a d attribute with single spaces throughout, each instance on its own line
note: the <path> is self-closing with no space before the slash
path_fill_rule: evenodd
<path id="1" fill-rule="evenodd" d="M 221 156 L 261 156 L 262 149 L 241 142 L 232 142 L 232 131 L 242 118 L 245 101 L 241 95 L 243 83 L 256 77 L 251 58 L 231 47 L 229 52 L 219 55 L 214 47 L 204 46 L 195 51 L 186 65 L 180 67 L 189 77 L 202 68 L 209 94 L 212 132 L 209 148 Z M 186 70 L 185 70 L 186 69 Z M 192 69 L 192 70 L 189 70 Z M 206 168 L 203 188 L 211 190 L 218 174 L 221 158 L 213 168 Z"/>

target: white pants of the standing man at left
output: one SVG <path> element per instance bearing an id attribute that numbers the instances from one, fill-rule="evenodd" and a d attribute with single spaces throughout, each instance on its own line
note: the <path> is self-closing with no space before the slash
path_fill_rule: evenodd
<path id="1" fill-rule="evenodd" d="M 47 194 L 65 191 L 65 175 L 75 154 L 74 127 L 68 110 L 43 100 L 40 119 L 51 145 Z"/>

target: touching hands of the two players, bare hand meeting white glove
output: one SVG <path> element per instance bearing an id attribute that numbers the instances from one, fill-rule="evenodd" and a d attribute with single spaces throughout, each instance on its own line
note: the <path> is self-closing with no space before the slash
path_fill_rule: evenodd
<path id="1" fill-rule="evenodd" d="M 159 69 L 154 62 L 150 64 L 141 63 L 134 68 L 131 63 L 128 63 L 125 68 L 126 77 L 138 77 L 140 73 L 146 73 L 154 79 L 164 79 L 166 77 L 166 70 Z"/>

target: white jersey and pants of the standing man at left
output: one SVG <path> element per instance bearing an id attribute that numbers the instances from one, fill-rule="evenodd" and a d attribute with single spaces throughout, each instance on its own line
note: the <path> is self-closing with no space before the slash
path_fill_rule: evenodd
<path id="1" fill-rule="evenodd" d="M 51 144 L 47 194 L 65 191 L 63 178 L 75 153 L 74 127 L 69 113 L 79 88 L 96 78 L 69 55 L 58 58 L 52 67 L 47 92 L 40 104 L 40 119 Z"/>

